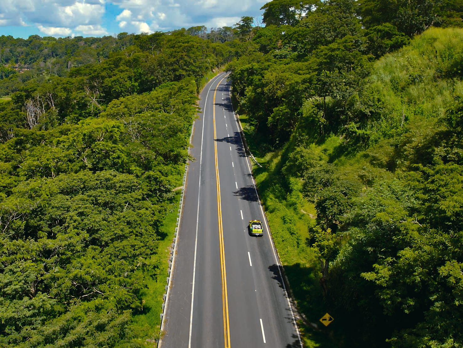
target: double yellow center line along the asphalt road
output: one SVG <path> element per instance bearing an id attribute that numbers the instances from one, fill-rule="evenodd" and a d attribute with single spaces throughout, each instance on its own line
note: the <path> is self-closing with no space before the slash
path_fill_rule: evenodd
<path id="1" fill-rule="evenodd" d="M 225 79 L 219 81 L 214 90 L 214 104 L 213 104 L 213 123 L 214 123 L 214 153 L 215 153 L 215 176 L 217 179 L 217 214 L 219 216 L 219 245 L 220 245 L 220 271 L 222 274 L 222 306 L 224 312 L 224 337 L 225 348 L 230 348 L 230 321 L 228 319 L 228 294 L 227 294 L 227 273 L 225 270 L 225 248 L 224 248 L 224 230 L 222 227 L 222 204 L 220 202 L 220 179 L 219 179 L 219 165 L 217 162 L 217 139 L 215 132 L 215 94 L 219 84 Z"/>

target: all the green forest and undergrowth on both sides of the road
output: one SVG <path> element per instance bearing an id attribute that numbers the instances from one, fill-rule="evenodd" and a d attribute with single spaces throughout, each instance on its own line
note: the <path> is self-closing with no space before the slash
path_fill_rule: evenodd
<path id="1" fill-rule="evenodd" d="M 0 37 L 0 346 L 154 344 L 197 92 L 225 64 L 305 345 L 463 346 L 463 1 L 262 10 Z"/>

